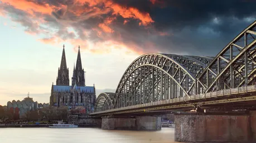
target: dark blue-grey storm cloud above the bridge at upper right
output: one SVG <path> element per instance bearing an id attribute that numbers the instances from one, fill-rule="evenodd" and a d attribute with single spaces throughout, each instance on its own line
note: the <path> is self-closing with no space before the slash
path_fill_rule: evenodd
<path id="1" fill-rule="evenodd" d="M 216 54 L 256 18 L 256 1 L 115 2 L 148 12 L 156 30 L 171 33 L 151 39 L 162 52 L 186 50 L 188 54 L 210 54 L 209 51 Z"/>

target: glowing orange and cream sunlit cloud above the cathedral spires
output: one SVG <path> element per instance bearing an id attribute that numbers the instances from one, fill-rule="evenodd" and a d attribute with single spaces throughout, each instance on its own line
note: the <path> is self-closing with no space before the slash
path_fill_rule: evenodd
<path id="1" fill-rule="evenodd" d="M 127 24 L 130 19 L 137 19 L 139 25 L 144 26 L 154 22 L 151 16 L 149 16 L 149 13 L 141 12 L 134 7 L 123 7 L 120 4 L 114 3 L 112 0 L 74 0 L 72 4 L 56 6 L 50 6 L 46 3 L 38 4 L 36 0 L 0 1 L 29 13 L 28 16 L 24 16 L 27 18 L 25 21 L 18 19 L 16 22 L 22 23 L 23 26 L 27 28 L 25 32 L 28 34 L 40 33 L 46 35 L 46 37 L 50 37 L 38 39 L 40 42 L 52 45 L 69 42 L 74 45 L 75 49 L 80 45 L 81 49 L 97 54 L 109 53 L 112 52 L 113 49 L 130 50 L 132 53 L 139 54 L 144 53 L 142 50 L 144 48 L 141 48 L 135 42 L 122 42 L 122 40 L 127 40 L 125 39 L 127 37 L 124 36 L 125 38 L 122 38 L 122 32 L 115 29 L 113 26 L 115 23 L 113 23 L 113 21 L 118 17 L 123 17 L 125 18 L 123 24 Z M 60 9 L 61 11 L 57 12 L 57 10 Z M 38 15 L 35 14 L 37 12 L 49 14 L 50 17 L 47 16 L 47 18 L 45 18 L 43 15 L 38 17 Z M 54 15 L 52 15 L 52 12 L 55 12 Z M 92 18 L 93 21 L 88 21 L 89 24 L 86 25 L 87 23 L 85 24 L 84 21 L 91 17 L 94 17 Z M 15 20 L 16 19 L 13 21 Z M 49 26 L 50 24 L 54 26 L 51 27 Z M 74 28 L 75 33 L 73 35 L 75 36 L 67 36 L 69 33 L 66 34 L 65 28 L 73 27 L 74 25 L 76 28 Z M 156 32 L 156 34 L 158 33 Z M 165 35 L 165 33 L 159 34 Z M 91 40 L 90 37 L 95 37 L 96 40 Z M 147 43 L 146 47 L 152 47 L 152 45 L 152 43 Z"/>

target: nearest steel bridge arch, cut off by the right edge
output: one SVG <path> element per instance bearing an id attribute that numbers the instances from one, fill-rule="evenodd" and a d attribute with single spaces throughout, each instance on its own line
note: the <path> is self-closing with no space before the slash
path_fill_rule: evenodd
<path id="1" fill-rule="evenodd" d="M 252 84 L 255 76 L 256 21 L 236 36 L 204 71 L 197 75 L 196 93 Z"/>

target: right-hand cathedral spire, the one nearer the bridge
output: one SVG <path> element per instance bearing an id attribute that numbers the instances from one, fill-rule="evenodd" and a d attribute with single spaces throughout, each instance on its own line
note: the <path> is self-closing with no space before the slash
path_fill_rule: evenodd
<path id="1" fill-rule="evenodd" d="M 84 69 L 82 68 L 80 46 L 78 47 L 78 58 L 76 59 L 76 66 L 74 65 L 72 86 L 85 86 Z"/>

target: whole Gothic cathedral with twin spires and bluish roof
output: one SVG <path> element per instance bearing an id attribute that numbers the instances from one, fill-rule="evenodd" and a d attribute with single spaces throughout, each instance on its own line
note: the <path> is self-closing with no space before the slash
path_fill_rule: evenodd
<path id="1" fill-rule="evenodd" d="M 96 101 L 95 87 L 85 86 L 85 72 L 82 68 L 80 47 L 74 64 L 72 84 L 69 85 L 69 68 L 66 65 L 65 46 L 63 45 L 61 63 L 57 74 L 56 85 L 52 83 L 50 106 L 69 106 L 69 109 L 83 106 L 87 113 L 94 110 Z"/>

